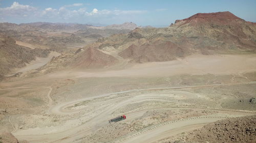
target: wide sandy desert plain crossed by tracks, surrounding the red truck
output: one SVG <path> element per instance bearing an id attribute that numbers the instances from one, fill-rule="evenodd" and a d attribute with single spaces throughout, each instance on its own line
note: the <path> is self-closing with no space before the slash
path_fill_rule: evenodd
<path id="1" fill-rule="evenodd" d="M 174 141 L 211 122 L 255 115 L 255 63 L 255 54 L 195 54 L 12 77 L 0 83 L 1 106 L 8 107 L 1 130 L 29 142 Z M 120 115 L 127 119 L 108 123 Z"/>

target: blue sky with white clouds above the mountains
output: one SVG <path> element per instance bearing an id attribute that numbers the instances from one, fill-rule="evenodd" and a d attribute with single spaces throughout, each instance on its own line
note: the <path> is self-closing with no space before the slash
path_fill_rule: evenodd
<path id="1" fill-rule="evenodd" d="M 166 26 L 196 13 L 229 11 L 256 22 L 256 0 L 0 0 L 0 22 L 66 22 Z"/>

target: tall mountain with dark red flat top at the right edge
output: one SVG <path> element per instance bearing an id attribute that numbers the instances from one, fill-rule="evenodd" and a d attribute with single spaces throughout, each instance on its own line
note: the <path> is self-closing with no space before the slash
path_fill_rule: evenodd
<path id="1" fill-rule="evenodd" d="M 202 42 L 202 46 L 214 42 L 211 47 L 227 52 L 255 51 L 255 23 L 247 22 L 230 12 L 198 13 L 183 20 L 176 20 L 171 27 L 178 28 L 177 32 L 186 34 L 186 38 L 204 38 L 206 41 Z"/>

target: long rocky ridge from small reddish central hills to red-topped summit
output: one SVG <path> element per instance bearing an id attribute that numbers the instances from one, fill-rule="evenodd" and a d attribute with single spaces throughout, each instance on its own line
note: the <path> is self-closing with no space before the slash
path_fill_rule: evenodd
<path id="1" fill-rule="evenodd" d="M 93 49 L 97 54 L 88 49 Z M 48 71 L 54 71 L 52 67 L 58 67 L 60 59 L 61 67 L 92 68 L 88 64 L 88 61 L 91 61 L 86 58 L 88 56 L 97 57 L 94 64 L 101 63 L 97 67 L 115 64 L 117 59 L 110 58 L 112 55 L 103 54 L 104 51 L 110 54 L 117 53 L 130 63 L 172 61 L 194 53 L 255 53 L 256 25 L 230 12 L 199 13 L 183 20 L 176 20 L 175 24 L 166 28 L 137 27 L 127 34 L 99 38 L 84 47 L 84 51 L 79 54 L 73 54 L 76 51 L 71 51 L 63 53 L 61 58 L 52 60 L 51 63 L 55 66 L 51 65 L 51 70 Z M 108 62 L 103 64 L 104 60 L 98 61 L 100 56 Z"/>

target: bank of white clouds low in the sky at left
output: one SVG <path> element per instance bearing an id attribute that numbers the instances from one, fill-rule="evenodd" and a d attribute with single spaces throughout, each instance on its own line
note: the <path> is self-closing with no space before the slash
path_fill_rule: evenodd
<path id="1" fill-rule="evenodd" d="M 72 5 L 62 6 L 58 9 L 51 7 L 38 9 L 30 5 L 22 5 L 14 2 L 10 7 L 0 8 L 0 18 L 2 18 L 0 21 L 3 21 L 3 19 L 13 19 L 13 21 L 15 19 L 22 19 L 23 21 L 28 19 L 30 19 L 30 21 L 33 21 L 33 19 L 41 19 L 42 21 L 68 21 L 71 19 L 79 20 L 87 18 L 90 20 L 96 18 L 95 20 L 97 20 L 99 17 L 111 19 L 115 16 L 125 17 L 125 15 L 137 15 L 147 12 L 145 10 L 98 10 L 97 8 L 94 8 L 92 11 L 87 11 L 86 8 L 82 7 L 83 5 L 86 4 L 75 3 Z"/>

